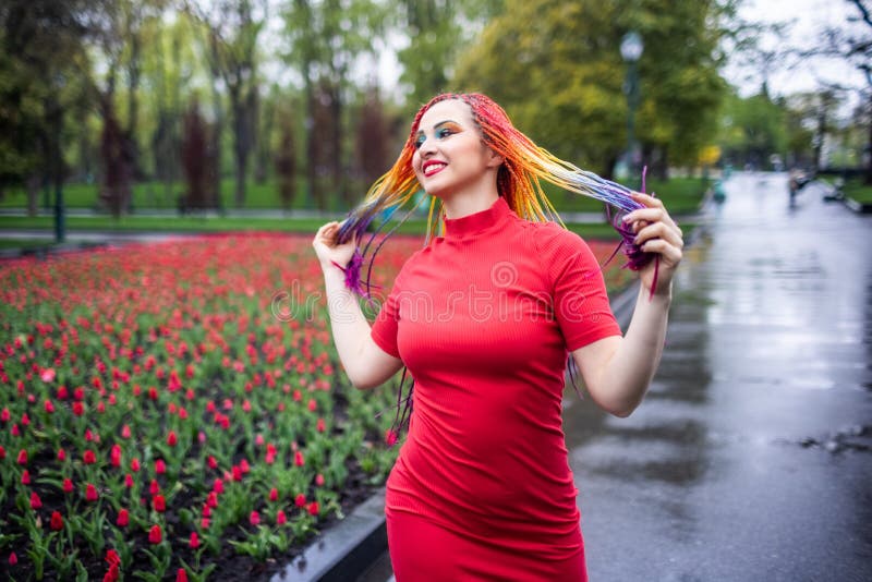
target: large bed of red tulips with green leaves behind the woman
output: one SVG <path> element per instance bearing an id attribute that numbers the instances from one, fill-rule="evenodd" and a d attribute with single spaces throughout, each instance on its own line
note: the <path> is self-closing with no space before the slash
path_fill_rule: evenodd
<path id="1" fill-rule="evenodd" d="M 311 237 L 8 262 L 0 289 L 4 579 L 257 579 L 390 470 L 397 383 L 341 373 Z"/>

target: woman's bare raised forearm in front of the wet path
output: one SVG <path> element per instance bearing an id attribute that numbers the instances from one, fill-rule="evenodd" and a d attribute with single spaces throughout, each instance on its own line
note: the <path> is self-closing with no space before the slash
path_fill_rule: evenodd
<path id="1" fill-rule="evenodd" d="M 666 338 L 671 290 L 651 296 L 640 288 L 630 326 L 596 383 L 603 407 L 629 415 L 642 401 L 657 371 Z"/>

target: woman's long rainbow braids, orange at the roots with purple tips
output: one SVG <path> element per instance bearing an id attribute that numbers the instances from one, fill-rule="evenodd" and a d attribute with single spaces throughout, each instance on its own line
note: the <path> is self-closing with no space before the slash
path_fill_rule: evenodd
<path id="1" fill-rule="evenodd" d="M 609 221 L 621 235 L 620 247 L 623 248 L 627 257 L 626 266 L 639 270 L 651 262 L 654 255 L 643 252 L 633 243 L 635 234 L 621 221 L 625 214 L 642 208 L 642 204 L 630 196 L 630 189 L 582 170 L 538 147 L 512 125 L 506 111 L 489 97 L 479 93 L 446 93 L 434 97 L 417 111 L 409 137 L 393 167 L 370 187 L 363 203 L 349 213 L 339 229 L 339 243 L 346 243 L 352 239 L 358 241 L 354 257 L 346 267 L 346 284 L 349 289 L 353 289 L 361 295 L 371 296 L 370 281 L 375 255 L 397 227 L 416 209 L 415 206 L 405 213 L 405 216 L 377 244 L 376 237 L 384 230 L 387 220 L 383 220 L 366 242 L 362 243 L 366 238 L 367 229 L 376 217 L 384 210 L 404 207 L 421 190 L 412 169 L 415 134 L 422 116 L 434 105 L 447 99 L 459 99 L 470 106 L 473 121 L 484 142 L 504 158 L 505 162 L 497 173 L 497 190 L 514 214 L 526 220 L 557 221 L 562 225 L 557 210 L 542 190 L 540 181 L 544 180 L 564 190 L 598 199 L 607 205 L 607 209 L 614 208 L 614 213 L 610 210 L 608 213 Z M 435 210 L 436 198 L 432 197 L 427 218 L 427 242 L 436 232 L 437 227 L 441 227 L 440 232 L 445 228 L 445 215 L 441 207 L 438 213 Z M 364 264 L 367 264 L 367 270 L 366 276 L 362 277 Z"/>

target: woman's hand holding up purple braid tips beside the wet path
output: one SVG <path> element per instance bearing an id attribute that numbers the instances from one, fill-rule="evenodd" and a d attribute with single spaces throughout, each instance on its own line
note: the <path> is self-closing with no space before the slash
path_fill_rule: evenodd
<path id="1" fill-rule="evenodd" d="M 623 221 L 635 233 L 634 242 L 642 251 L 658 255 L 657 259 L 652 260 L 639 271 L 639 277 L 645 290 L 651 293 L 651 286 L 655 282 L 655 264 L 659 263 L 656 265 L 657 288 L 653 292 L 654 294 L 668 294 L 675 269 L 681 262 L 681 250 L 685 247 L 681 229 L 666 211 L 662 201 L 638 192 L 633 192 L 631 196 L 635 202 L 644 205 L 644 208 L 628 213 L 623 217 Z"/>

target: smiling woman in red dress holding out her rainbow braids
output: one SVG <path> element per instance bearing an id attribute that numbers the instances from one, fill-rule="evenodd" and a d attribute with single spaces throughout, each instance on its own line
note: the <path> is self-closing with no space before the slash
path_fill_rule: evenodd
<path id="1" fill-rule="evenodd" d="M 592 253 L 543 220 L 535 196 L 535 177 L 562 183 L 574 167 L 531 144 L 487 97 L 438 96 L 352 227 L 327 223 L 313 241 L 351 381 L 378 386 L 403 365 L 414 378 L 386 493 L 398 582 L 586 580 L 561 429 L 567 353 L 617 416 L 641 402 L 659 362 L 681 231 L 659 201 L 625 196 L 641 289 L 621 337 Z M 405 263 L 371 328 L 350 290 L 355 233 L 419 186 L 441 203 L 444 235 Z"/>

